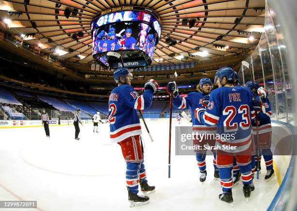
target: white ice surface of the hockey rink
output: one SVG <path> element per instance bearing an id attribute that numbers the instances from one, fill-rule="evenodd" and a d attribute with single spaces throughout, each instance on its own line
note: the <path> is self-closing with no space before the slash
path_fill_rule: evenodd
<path id="1" fill-rule="evenodd" d="M 262 211 L 277 192 L 274 177 L 260 180 L 247 204 L 242 184 L 233 188 L 233 205 L 221 202 L 221 187 L 213 180 L 213 156 L 207 156 L 207 179 L 199 182 L 195 156 L 176 156 L 174 126 L 171 179 L 168 179 L 168 122 L 148 121 L 155 141 L 150 142 L 143 126 L 148 183 L 156 186 L 150 203 L 130 208 L 125 181 L 125 161 L 120 147 L 109 143 L 109 125 L 81 126 L 80 141 L 74 126 L 50 127 L 50 138 L 42 127 L 0 129 L 0 200 L 37 200 L 44 211 Z M 181 125 L 190 125 L 181 122 Z M 14 209 L 9 209 L 13 211 Z M 25 209 L 21 209 L 24 211 Z M 32 211 L 33 209 L 28 209 Z M 17 209 L 20 211 L 20 209 Z"/>

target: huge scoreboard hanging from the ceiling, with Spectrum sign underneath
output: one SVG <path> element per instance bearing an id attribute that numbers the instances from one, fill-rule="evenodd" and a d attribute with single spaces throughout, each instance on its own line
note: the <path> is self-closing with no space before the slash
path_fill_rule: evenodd
<path id="1" fill-rule="evenodd" d="M 122 6 L 102 11 L 91 22 L 93 58 L 103 66 L 116 68 L 118 60 L 106 56 L 115 51 L 123 55 L 125 66 L 150 65 L 161 36 L 160 23 L 158 15 L 145 7 Z"/>

